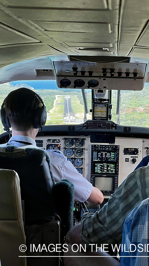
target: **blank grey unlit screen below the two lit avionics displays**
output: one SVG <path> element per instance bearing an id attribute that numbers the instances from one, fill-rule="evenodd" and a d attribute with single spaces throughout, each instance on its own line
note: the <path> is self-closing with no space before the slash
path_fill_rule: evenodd
<path id="1" fill-rule="evenodd" d="M 113 177 L 95 177 L 95 187 L 102 191 L 112 191 L 113 181 Z"/>

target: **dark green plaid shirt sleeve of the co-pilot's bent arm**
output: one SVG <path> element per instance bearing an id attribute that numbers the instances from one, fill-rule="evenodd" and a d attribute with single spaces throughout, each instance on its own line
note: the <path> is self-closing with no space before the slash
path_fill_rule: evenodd
<path id="1" fill-rule="evenodd" d="M 120 244 L 126 216 L 142 200 L 149 197 L 149 166 L 131 173 L 96 213 L 83 215 L 83 244 Z"/>

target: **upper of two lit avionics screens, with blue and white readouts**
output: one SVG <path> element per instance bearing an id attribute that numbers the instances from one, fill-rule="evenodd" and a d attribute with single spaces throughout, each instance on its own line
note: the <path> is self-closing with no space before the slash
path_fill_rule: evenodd
<path id="1" fill-rule="evenodd" d="M 95 151 L 94 161 L 116 161 L 116 152 L 113 151 Z"/>

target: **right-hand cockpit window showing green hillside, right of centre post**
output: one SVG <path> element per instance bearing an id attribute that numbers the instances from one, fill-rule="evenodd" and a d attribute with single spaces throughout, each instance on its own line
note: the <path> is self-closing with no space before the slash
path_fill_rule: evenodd
<path id="1" fill-rule="evenodd" d="M 112 90 L 112 121 L 117 123 L 117 90 Z M 149 83 L 141 91 L 121 91 L 120 125 L 149 126 Z"/>

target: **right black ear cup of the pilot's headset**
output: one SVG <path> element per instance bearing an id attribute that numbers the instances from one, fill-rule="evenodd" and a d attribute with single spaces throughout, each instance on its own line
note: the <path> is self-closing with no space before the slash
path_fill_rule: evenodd
<path id="1" fill-rule="evenodd" d="M 47 120 L 47 112 L 45 108 L 41 110 L 41 107 L 39 107 L 33 119 L 34 128 L 42 128 L 46 124 L 46 120 Z"/>

